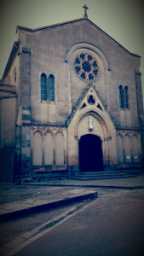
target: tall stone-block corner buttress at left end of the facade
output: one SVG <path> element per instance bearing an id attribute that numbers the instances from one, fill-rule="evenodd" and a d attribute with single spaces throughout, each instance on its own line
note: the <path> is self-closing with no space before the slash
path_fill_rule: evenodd
<path id="1" fill-rule="evenodd" d="M 31 176 L 31 49 L 22 48 L 20 55 L 21 176 Z"/>

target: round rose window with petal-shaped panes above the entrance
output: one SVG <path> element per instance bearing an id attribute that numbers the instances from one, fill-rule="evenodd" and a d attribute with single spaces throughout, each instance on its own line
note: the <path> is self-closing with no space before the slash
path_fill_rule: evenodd
<path id="1" fill-rule="evenodd" d="M 93 81 L 97 77 L 98 65 L 92 55 L 81 53 L 74 62 L 75 71 L 80 79 Z"/>

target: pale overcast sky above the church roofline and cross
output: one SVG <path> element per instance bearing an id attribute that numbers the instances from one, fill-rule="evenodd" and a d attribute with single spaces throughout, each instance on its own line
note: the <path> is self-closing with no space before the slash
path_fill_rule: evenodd
<path id="1" fill-rule="evenodd" d="M 141 55 L 144 96 L 144 1 L 143 0 L 1 0 L 0 79 L 17 40 L 17 25 L 30 28 L 48 26 L 84 16 L 130 52 Z"/>

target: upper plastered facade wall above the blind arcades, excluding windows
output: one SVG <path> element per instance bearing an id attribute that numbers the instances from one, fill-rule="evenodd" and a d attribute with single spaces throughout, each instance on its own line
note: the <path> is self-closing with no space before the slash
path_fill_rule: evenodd
<path id="1" fill-rule="evenodd" d="M 95 89 L 107 105 L 118 126 L 121 121 L 118 103 L 118 85 L 130 88 L 130 109 L 127 118 L 130 126 L 139 126 L 135 90 L 135 70 L 139 71 L 140 58 L 124 49 L 89 20 L 79 20 L 64 26 L 51 26 L 35 32 L 20 30 L 20 41 L 31 48 L 32 121 L 64 124 L 87 84 L 74 70 L 74 57 L 88 51 L 100 63 L 100 76 Z M 24 36 L 25 34 L 25 36 Z M 84 42 L 84 43 L 81 43 Z M 78 49 L 73 47 L 78 44 Z M 85 44 L 85 46 L 84 46 Z M 68 53 L 72 55 L 68 58 Z M 105 64 L 104 64 L 105 62 Z M 40 73 L 55 76 L 55 104 L 39 102 Z M 130 113 L 133 113 L 132 115 Z"/>

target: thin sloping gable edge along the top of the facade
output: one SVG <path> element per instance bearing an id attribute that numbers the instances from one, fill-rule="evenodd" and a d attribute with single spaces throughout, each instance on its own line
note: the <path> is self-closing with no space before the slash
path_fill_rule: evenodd
<path id="1" fill-rule="evenodd" d="M 104 33 L 108 38 L 111 38 L 112 41 L 114 41 L 116 44 L 118 44 L 121 48 L 123 48 L 125 51 L 127 51 L 130 55 L 133 55 L 135 57 L 141 57 L 140 55 L 136 55 L 134 53 L 131 53 L 128 49 L 124 48 L 123 45 L 119 44 L 118 41 L 116 41 L 115 39 L 113 39 L 111 36 L 109 36 L 107 34 L 107 32 L 104 32 L 99 26 L 96 26 L 94 22 L 92 22 L 91 20 L 89 20 L 88 18 L 84 17 L 84 18 L 80 18 L 80 19 L 76 19 L 76 20 L 69 20 L 69 21 L 65 21 L 65 22 L 61 22 L 61 23 L 57 23 L 54 25 L 49 25 L 49 26 L 42 26 L 42 27 L 38 27 L 38 28 L 28 28 L 25 26 L 17 26 L 16 27 L 16 32 L 18 32 L 18 29 L 20 30 L 25 30 L 27 32 L 37 32 L 37 31 L 43 31 L 43 30 L 49 30 L 52 28 L 55 28 L 57 26 L 66 26 L 67 24 L 72 24 L 72 23 L 76 23 L 82 20 L 87 20 L 89 22 L 90 25 L 95 26 L 100 32 Z"/>

